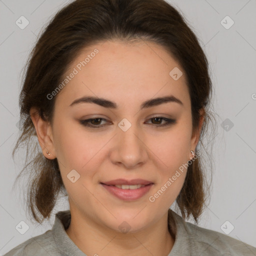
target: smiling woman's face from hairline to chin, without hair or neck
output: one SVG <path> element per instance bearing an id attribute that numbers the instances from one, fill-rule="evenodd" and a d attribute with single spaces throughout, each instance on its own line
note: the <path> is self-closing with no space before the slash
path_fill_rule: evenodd
<path id="1" fill-rule="evenodd" d="M 175 67 L 183 72 L 178 79 L 169 74 Z M 116 231 L 123 221 L 131 231 L 156 222 L 176 199 L 186 174 L 180 166 L 198 142 L 182 67 L 153 42 L 104 41 L 83 49 L 66 75 L 47 147 L 57 158 L 71 214 Z M 160 97 L 169 98 L 152 101 Z M 102 184 L 114 179 L 148 185 Z"/>

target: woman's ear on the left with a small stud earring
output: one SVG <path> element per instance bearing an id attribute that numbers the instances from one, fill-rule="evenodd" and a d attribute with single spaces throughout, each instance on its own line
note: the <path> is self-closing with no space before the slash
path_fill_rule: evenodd
<path id="1" fill-rule="evenodd" d="M 48 159 L 56 158 L 50 123 L 41 118 L 38 110 L 35 107 L 31 107 L 29 114 L 35 127 L 38 142 L 42 149 L 43 155 Z M 49 155 L 46 152 L 48 152 Z"/>

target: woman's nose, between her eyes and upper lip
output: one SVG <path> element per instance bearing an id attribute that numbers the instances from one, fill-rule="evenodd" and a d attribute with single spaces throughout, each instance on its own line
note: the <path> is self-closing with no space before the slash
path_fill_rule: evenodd
<path id="1" fill-rule="evenodd" d="M 148 159 L 148 147 L 143 141 L 143 136 L 135 125 L 131 125 L 126 131 L 117 127 L 114 143 L 110 152 L 110 160 L 113 164 L 123 165 L 127 169 L 136 168 Z"/>

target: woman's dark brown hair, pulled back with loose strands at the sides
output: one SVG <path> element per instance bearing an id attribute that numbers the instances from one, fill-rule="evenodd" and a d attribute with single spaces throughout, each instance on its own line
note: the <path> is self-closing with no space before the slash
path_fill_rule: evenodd
<path id="1" fill-rule="evenodd" d="M 114 38 L 126 42 L 156 42 L 180 63 L 187 77 L 193 130 L 198 127 L 199 110 L 205 111 L 196 150 L 202 145 L 203 134 L 211 120 L 208 62 L 195 34 L 179 12 L 164 0 L 75 0 L 59 10 L 42 31 L 26 63 L 19 95 L 20 135 L 12 155 L 20 145 L 26 147 L 26 164 L 16 180 L 23 170 L 28 170 L 27 208 L 39 223 L 50 217 L 59 193 L 67 194 L 57 159 L 45 158 L 38 146 L 29 110 L 36 107 L 41 118 L 51 123 L 55 97 L 49 100 L 46 95 L 61 82 L 68 65 L 84 47 Z M 176 198 L 182 217 L 192 214 L 196 222 L 208 191 L 202 169 L 201 156 L 198 156 L 188 166 Z"/>

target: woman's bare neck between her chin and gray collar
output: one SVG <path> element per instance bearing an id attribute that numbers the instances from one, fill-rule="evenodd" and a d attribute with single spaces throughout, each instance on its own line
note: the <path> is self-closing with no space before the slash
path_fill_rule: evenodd
<path id="1" fill-rule="evenodd" d="M 84 216 L 71 216 L 66 233 L 86 255 L 167 256 L 174 244 L 167 226 L 168 212 L 154 224 L 133 233 L 116 232 Z"/>

